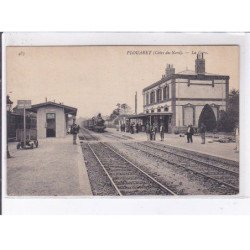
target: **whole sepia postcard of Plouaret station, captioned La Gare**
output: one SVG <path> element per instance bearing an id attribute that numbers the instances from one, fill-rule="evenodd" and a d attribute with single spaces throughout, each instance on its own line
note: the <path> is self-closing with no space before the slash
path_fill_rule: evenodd
<path id="1" fill-rule="evenodd" d="M 237 45 L 7 46 L 6 195 L 238 195 L 239 61 Z"/>

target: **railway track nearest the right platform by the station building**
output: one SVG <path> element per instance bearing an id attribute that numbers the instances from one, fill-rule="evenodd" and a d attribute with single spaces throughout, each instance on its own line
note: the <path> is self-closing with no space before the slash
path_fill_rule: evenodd
<path id="1" fill-rule="evenodd" d="M 158 158 L 175 167 L 181 167 L 196 175 L 203 176 L 206 179 L 212 180 L 220 185 L 224 185 L 230 189 L 230 193 L 239 192 L 239 174 L 235 171 L 204 163 L 178 153 L 168 152 L 167 150 L 148 144 L 133 143 L 133 145 L 125 145 L 134 150 L 140 150 L 151 157 Z M 164 153 L 164 156 L 162 153 Z"/>

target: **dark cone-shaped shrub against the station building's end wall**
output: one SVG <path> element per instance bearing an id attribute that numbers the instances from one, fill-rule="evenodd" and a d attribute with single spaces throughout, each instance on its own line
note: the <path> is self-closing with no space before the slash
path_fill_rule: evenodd
<path id="1" fill-rule="evenodd" d="M 215 129 L 216 127 L 216 118 L 214 115 L 214 111 L 208 104 L 206 104 L 201 111 L 198 123 L 199 127 L 201 123 L 205 124 L 207 131 L 213 131 L 213 129 Z"/>

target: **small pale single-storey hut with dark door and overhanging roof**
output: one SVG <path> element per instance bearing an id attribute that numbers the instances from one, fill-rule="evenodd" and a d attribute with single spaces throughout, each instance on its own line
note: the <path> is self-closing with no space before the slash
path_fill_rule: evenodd
<path id="1" fill-rule="evenodd" d="M 65 137 L 70 117 L 75 117 L 77 108 L 55 102 L 32 105 L 30 111 L 37 113 L 38 138 Z"/>

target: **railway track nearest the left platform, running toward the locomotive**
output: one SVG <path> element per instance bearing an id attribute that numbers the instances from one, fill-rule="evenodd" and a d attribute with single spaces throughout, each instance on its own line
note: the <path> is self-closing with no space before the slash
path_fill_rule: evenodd
<path id="1" fill-rule="evenodd" d="M 176 195 L 103 142 L 86 143 L 120 195 Z"/>

